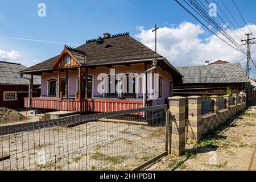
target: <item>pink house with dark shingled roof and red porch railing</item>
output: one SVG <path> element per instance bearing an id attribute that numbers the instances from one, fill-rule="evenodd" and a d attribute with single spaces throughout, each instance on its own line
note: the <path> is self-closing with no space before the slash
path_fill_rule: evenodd
<path id="1" fill-rule="evenodd" d="M 155 58 L 158 59 L 156 69 L 153 67 Z M 152 73 L 159 74 L 158 98 L 144 97 L 146 102 L 143 102 L 143 73 L 150 68 Z M 166 58 L 128 33 L 106 33 L 103 38 L 88 40 L 77 48 L 64 46 L 60 55 L 22 73 L 42 77 L 42 96 L 32 98 L 31 107 L 79 112 L 164 104 L 172 96 L 173 82 L 182 81 L 182 75 Z M 102 76 L 100 80 L 98 76 Z M 117 89 L 112 90 L 113 85 Z M 150 76 L 147 76 L 146 85 L 149 95 L 155 85 Z M 122 89 L 127 92 L 121 92 Z M 25 100 L 24 106 L 28 107 L 28 98 Z"/>

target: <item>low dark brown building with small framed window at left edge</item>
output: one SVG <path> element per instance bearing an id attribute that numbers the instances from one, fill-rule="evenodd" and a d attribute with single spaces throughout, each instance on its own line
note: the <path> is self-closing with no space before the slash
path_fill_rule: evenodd
<path id="1" fill-rule="evenodd" d="M 28 97 L 29 81 L 20 76 L 26 69 L 21 64 L 0 61 L 0 107 L 18 109 L 24 106 L 24 97 Z M 24 75 L 24 77 L 30 77 Z M 34 96 L 40 95 L 40 77 L 34 77 Z"/>

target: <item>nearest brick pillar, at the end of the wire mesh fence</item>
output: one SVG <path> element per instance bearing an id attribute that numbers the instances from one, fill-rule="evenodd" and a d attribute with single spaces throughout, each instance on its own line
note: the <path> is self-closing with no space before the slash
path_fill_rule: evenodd
<path id="1" fill-rule="evenodd" d="M 170 97 L 170 153 L 180 156 L 185 151 L 185 97 Z"/>

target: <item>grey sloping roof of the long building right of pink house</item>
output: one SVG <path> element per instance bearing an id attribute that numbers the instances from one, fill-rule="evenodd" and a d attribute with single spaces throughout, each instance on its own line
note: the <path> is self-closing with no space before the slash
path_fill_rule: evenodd
<path id="1" fill-rule="evenodd" d="M 184 84 L 249 82 L 240 63 L 176 67 L 176 69 L 184 76 Z"/>

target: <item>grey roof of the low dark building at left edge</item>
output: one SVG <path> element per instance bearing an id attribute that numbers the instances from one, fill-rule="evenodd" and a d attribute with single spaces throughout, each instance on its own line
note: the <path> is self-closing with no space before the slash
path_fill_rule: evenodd
<path id="1" fill-rule="evenodd" d="M 29 81 L 20 77 L 20 71 L 26 69 L 21 64 L 0 61 L 0 85 L 28 85 Z M 23 75 L 30 78 L 30 75 Z M 40 76 L 34 76 L 34 85 L 41 85 Z"/>

